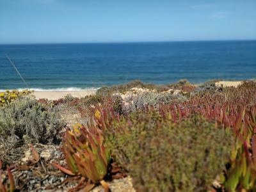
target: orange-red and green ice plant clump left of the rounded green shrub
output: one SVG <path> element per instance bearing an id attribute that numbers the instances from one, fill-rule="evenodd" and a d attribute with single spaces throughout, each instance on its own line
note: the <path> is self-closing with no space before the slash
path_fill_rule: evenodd
<path id="1" fill-rule="evenodd" d="M 100 182 L 105 191 L 109 190 L 104 177 L 108 173 L 110 154 L 104 147 L 104 138 L 97 126 L 76 124 L 72 131 L 65 132 L 63 154 L 70 170 L 53 163 L 56 168 L 69 175 L 81 174 L 94 184 Z"/>

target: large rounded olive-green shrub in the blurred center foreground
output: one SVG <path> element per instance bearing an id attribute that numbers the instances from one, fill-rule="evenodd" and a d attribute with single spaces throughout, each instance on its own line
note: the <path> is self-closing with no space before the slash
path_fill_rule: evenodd
<path id="1" fill-rule="evenodd" d="M 138 191 L 207 191 L 230 156 L 232 136 L 200 116 L 174 124 L 156 111 L 114 121 L 108 145 Z"/>

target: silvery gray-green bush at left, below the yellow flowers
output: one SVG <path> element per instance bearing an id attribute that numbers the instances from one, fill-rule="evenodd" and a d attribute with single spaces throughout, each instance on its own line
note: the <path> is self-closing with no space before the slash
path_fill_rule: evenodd
<path id="1" fill-rule="evenodd" d="M 0 109 L 0 144 L 13 147 L 24 140 L 55 143 L 64 124 L 54 109 L 31 97 L 17 99 Z"/>

